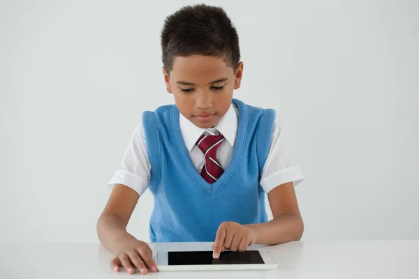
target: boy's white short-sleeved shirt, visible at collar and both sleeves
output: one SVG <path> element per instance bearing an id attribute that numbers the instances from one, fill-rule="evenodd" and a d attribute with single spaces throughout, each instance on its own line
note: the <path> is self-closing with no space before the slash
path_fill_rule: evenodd
<path id="1" fill-rule="evenodd" d="M 216 158 L 219 160 L 223 169 L 228 167 L 233 154 L 237 126 L 238 110 L 237 107 L 232 104 L 227 113 L 220 119 L 219 123 L 214 126 L 214 128 L 226 139 L 216 153 Z M 180 113 L 179 127 L 193 165 L 196 167 L 196 170 L 200 172 L 205 163 L 205 156 L 196 145 L 196 142 L 207 130 L 195 126 Z M 281 135 L 281 128 L 277 121 L 275 121 L 272 128 L 270 149 L 260 179 L 260 186 L 265 193 L 269 193 L 273 188 L 287 182 L 293 182 L 294 186 L 297 186 L 297 184 L 304 179 L 300 168 L 290 164 L 289 158 L 286 155 L 284 140 L 282 140 Z M 142 195 L 142 193 L 147 190 L 149 186 L 151 165 L 147 155 L 146 144 L 145 130 L 142 126 L 142 119 L 140 119 L 131 140 L 128 143 L 122 163 L 119 165 L 119 169 L 117 169 L 115 175 L 109 181 L 110 188 L 115 184 L 120 183 L 132 188 L 139 195 Z"/>

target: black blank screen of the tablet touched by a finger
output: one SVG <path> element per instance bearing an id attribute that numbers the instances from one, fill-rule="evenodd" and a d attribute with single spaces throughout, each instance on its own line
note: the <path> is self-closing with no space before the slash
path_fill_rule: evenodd
<path id="1" fill-rule="evenodd" d="M 168 252 L 170 266 L 196 264 L 265 264 L 256 250 L 245 252 L 221 252 L 219 259 L 212 257 L 212 251 Z"/>

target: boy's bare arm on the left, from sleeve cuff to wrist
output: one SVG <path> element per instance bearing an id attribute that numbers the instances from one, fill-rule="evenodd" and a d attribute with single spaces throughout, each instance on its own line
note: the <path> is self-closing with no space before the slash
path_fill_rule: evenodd
<path id="1" fill-rule="evenodd" d="M 122 184 L 115 184 L 108 203 L 98 219 L 96 230 L 98 238 L 114 254 L 117 252 L 117 239 L 128 234 L 126 225 L 135 209 L 140 195 Z"/>

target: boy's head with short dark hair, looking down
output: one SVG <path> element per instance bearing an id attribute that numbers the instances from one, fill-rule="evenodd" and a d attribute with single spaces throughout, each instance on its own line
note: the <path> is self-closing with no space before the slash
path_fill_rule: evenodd
<path id="1" fill-rule="evenodd" d="M 243 72 L 239 38 L 226 12 L 201 4 L 169 15 L 161 49 L 166 89 L 179 112 L 200 128 L 215 126 Z"/>

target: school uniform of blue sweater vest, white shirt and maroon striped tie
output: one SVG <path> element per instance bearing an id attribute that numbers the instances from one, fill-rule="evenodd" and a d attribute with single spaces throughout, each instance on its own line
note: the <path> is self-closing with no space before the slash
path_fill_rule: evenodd
<path id="1" fill-rule="evenodd" d="M 233 99 L 203 129 L 165 105 L 142 114 L 109 185 L 152 192 L 152 242 L 214 241 L 223 221 L 267 222 L 265 193 L 304 179 L 289 162 L 274 110 Z"/>

